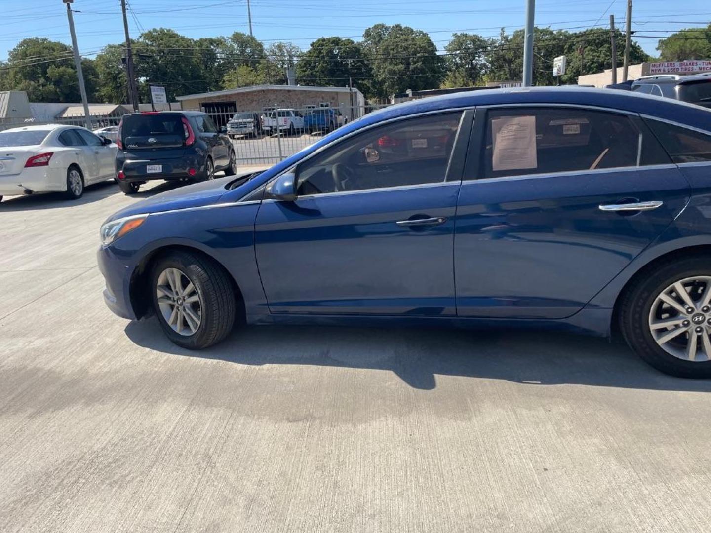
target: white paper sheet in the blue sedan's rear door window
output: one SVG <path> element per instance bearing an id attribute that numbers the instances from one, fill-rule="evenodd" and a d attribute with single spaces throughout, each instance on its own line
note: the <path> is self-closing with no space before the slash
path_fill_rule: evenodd
<path id="1" fill-rule="evenodd" d="M 510 171 L 536 168 L 535 117 L 504 117 L 491 121 L 491 169 Z"/>

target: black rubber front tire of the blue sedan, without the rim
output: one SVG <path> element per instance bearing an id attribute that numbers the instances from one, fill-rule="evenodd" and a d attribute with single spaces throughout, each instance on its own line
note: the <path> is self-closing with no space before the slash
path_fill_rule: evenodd
<path id="1" fill-rule="evenodd" d="M 177 333 L 164 318 L 158 303 L 156 287 L 165 269 L 178 269 L 185 274 L 200 297 L 201 321 L 192 335 Z M 237 305 L 230 278 L 218 264 L 198 254 L 171 252 L 161 257 L 151 269 L 151 299 L 156 318 L 166 336 L 176 345 L 188 350 L 201 350 L 219 343 L 235 325 Z"/>

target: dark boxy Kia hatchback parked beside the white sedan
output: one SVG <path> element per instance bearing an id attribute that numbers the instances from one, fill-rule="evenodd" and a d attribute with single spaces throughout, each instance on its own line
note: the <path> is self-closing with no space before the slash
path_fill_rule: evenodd
<path id="1" fill-rule="evenodd" d="M 215 172 L 237 170 L 232 142 L 203 112 L 124 115 L 116 143 L 116 181 L 125 194 L 149 180 L 212 180 Z"/>

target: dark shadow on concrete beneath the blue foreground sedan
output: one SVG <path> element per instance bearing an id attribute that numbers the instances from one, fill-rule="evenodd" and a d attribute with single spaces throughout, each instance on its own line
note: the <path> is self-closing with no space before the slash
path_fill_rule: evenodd
<path id="1" fill-rule="evenodd" d="M 531 385 L 582 384 L 711 392 L 710 380 L 663 375 L 620 342 L 570 333 L 427 328 L 245 326 L 211 348 L 184 350 L 156 318 L 125 328 L 137 345 L 241 365 L 314 365 L 390 370 L 416 389 L 437 375 L 506 379 Z"/>

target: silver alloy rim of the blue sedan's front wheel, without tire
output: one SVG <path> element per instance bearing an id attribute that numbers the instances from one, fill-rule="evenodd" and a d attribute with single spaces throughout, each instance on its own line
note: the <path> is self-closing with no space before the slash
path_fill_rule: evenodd
<path id="1" fill-rule="evenodd" d="M 166 323 L 179 335 L 196 333 L 203 320 L 203 302 L 193 282 L 176 268 L 158 276 L 156 298 Z"/>

